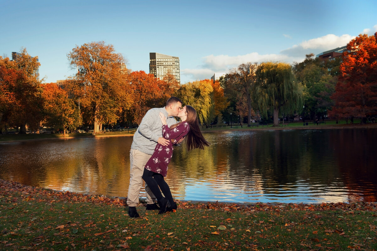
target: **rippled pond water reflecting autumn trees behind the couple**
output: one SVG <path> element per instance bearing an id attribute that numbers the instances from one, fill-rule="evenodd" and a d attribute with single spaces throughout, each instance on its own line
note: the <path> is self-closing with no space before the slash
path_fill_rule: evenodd
<path id="1" fill-rule="evenodd" d="M 176 199 L 227 202 L 377 201 L 376 129 L 205 133 L 211 146 L 175 147 Z M 0 144 L 0 178 L 126 197 L 132 137 Z M 145 197 L 144 190 L 140 196 Z"/>

